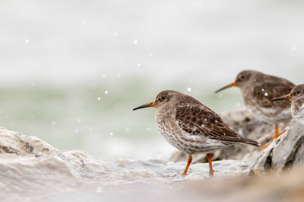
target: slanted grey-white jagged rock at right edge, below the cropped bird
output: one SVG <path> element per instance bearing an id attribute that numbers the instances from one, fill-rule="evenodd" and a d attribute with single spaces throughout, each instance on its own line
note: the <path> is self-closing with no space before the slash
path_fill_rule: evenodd
<path id="1" fill-rule="evenodd" d="M 275 139 L 252 166 L 251 174 L 281 173 L 304 164 L 304 106 L 291 120 L 287 131 Z"/>

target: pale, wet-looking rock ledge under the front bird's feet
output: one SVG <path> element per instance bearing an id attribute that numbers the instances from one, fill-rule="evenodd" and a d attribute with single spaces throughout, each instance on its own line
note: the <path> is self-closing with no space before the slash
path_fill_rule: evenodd
<path id="1" fill-rule="evenodd" d="M 56 149 L 37 137 L 5 128 L 0 128 L 0 158 L 0 201 L 58 201 L 58 195 L 83 190 L 96 194 L 145 189 L 151 193 L 210 178 L 208 164 L 192 164 L 187 176 L 175 176 L 184 169 L 184 162 L 109 162 L 83 150 Z M 213 169 L 211 180 L 245 176 L 249 171 L 246 162 L 233 160 L 214 162 Z"/>

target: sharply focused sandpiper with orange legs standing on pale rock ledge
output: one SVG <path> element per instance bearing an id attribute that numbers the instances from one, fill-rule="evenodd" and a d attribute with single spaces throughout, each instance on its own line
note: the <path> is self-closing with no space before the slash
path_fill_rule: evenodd
<path id="1" fill-rule="evenodd" d="M 153 102 L 133 110 L 155 107 L 155 121 L 159 132 L 175 148 L 188 155 L 181 175 L 186 175 L 192 155 L 207 154 L 210 175 L 213 175 L 211 154 L 235 143 L 259 146 L 257 141 L 239 136 L 212 110 L 195 98 L 174 90 L 160 92 Z"/>

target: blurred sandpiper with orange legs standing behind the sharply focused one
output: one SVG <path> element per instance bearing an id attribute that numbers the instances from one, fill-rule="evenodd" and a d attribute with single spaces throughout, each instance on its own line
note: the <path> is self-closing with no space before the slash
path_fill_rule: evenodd
<path id="1" fill-rule="evenodd" d="M 216 92 L 231 86 L 241 88 L 244 103 L 253 116 L 276 125 L 273 138 L 277 138 L 285 132 L 279 133 L 278 124 L 287 124 L 291 120 L 291 103 L 288 100 L 273 103 L 271 99 L 289 93 L 294 87 L 293 83 L 280 77 L 245 70 L 238 74 L 235 81 Z"/>

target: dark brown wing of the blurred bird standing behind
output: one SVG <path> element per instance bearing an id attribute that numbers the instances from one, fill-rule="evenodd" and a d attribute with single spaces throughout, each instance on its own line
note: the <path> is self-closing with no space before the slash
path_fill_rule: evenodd
<path id="1" fill-rule="evenodd" d="M 277 81 L 276 83 L 264 82 L 261 85 L 254 87 L 253 94 L 254 97 L 259 100 L 258 105 L 263 108 L 290 108 L 291 102 L 289 100 L 271 102 L 271 99 L 289 94 L 294 86 L 293 83 L 285 79 L 282 82 Z"/>

